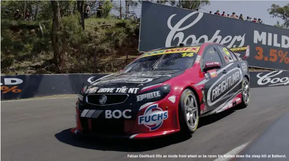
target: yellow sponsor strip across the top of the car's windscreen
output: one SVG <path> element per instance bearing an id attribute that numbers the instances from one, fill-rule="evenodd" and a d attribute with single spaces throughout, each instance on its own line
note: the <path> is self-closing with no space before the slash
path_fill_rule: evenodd
<path id="1" fill-rule="evenodd" d="M 147 56 L 154 56 L 154 55 L 161 55 L 161 54 L 173 54 L 173 53 L 180 53 L 180 52 L 197 52 L 199 50 L 200 47 L 187 47 L 187 48 L 170 48 L 170 49 L 163 49 L 163 50 L 157 50 L 157 51 L 150 51 L 150 52 L 146 52 L 142 55 L 143 57 L 147 57 Z M 193 56 L 193 54 L 192 54 Z M 184 56 L 183 56 L 184 57 Z"/>

